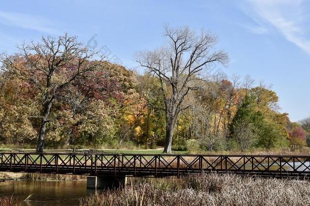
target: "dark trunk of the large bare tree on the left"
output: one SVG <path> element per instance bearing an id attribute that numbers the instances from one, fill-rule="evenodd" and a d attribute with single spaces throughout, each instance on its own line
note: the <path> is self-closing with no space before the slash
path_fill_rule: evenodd
<path id="1" fill-rule="evenodd" d="M 46 102 L 44 105 L 44 112 L 41 120 L 40 130 L 39 130 L 39 137 L 38 137 L 38 145 L 37 145 L 37 152 L 42 153 L 44 150 L 44 137 L 46 131 L 46 123 L 48 122 L 48 116 L 50 109 L 52 107 L 52 102 Z"/>

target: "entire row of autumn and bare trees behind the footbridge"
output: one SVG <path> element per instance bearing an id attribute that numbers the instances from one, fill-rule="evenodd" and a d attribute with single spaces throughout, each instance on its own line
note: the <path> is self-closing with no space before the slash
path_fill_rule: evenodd
<path id="1" fill-rule="evenodd" d="M 0 56 L 0 142 L 49 148 L 124 145 L 175 150 L 305 146 L 310 121 L 291 123 L 278 97 L 226 66 L 215 35 L 164 29 L 166 42 L 137 52 L 143 74 L 99 56 L 76 37 L 42 37 Z"/>

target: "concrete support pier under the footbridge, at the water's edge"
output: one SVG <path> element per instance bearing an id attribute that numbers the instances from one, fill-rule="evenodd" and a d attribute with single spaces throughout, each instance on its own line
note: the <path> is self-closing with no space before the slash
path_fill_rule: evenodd
<path id="1" fill-rule="evenodd" d="M 127 176 L 87 176 L 87 188 L 119 188 L 127 183 Z"/>

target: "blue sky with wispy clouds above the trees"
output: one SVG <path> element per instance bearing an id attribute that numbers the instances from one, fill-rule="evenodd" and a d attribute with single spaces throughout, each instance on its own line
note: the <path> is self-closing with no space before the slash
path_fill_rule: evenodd
<path id="1" fill-rule="evenodd" d="M 163 42 L 163 25 L 205 28 L 228 52 L 228 75 L 251 75 L 280 97 L 292 121 L 310 115 L 310 1 L 4 1 L 0 51 L 69 33 L 110 60 L 135 67 L 133 54 Z M 94 41 L 93 41 L 94 40 Z"/>

